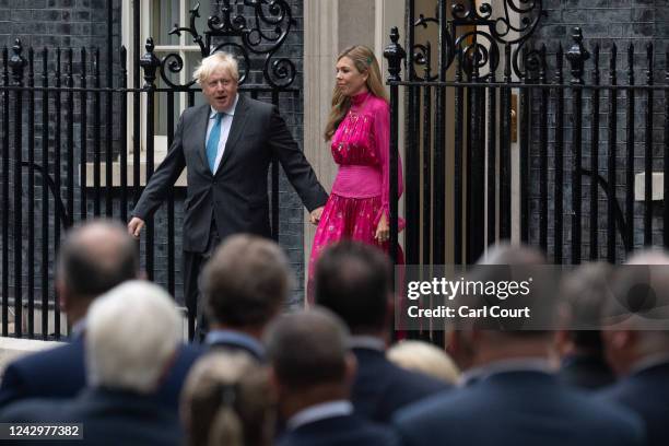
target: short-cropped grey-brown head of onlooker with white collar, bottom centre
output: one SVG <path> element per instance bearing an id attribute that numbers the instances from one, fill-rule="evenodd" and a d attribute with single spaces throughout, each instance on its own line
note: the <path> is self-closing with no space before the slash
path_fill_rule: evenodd
<path id="1" fill-rule="evenodd" d="M 263 337 L 279 382 L 296 391 L 343 383 L 349 330 L 333 313 L 315 307 L 274 320 Z"/>

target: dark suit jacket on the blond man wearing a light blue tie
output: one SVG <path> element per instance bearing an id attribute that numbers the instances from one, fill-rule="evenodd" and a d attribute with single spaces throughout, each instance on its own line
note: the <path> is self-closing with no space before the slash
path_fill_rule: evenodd
<path id="1" fill-rule="evenodd" d="M 325 204 L 327 193 L 277 107 L 243 95 L 213 175 L 204 149 L 210 111 L 209 105 L 184 111 L 169 152 L 146 185 L 133 215 L 145 220 L 153 214 L 184 167 L 188 167 L 184 250 L 204 251 L 212 219 L 221 238 L 242 232 L 269 237 L 267 177 L 273 156 L 309 211 Z"/>

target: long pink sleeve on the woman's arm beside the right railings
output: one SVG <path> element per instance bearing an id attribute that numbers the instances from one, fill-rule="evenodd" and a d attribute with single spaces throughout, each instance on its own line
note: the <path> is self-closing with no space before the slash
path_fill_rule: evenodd
<path id="1" fill-rule="evenodd" d="M 385 101 L 376 108 L 374 114 L 374 142 L 378 153 L 382 167 L 382 209 L 376 215 L 375 224 L 378 224 L 382 215 L 386 215 L 386 221 L 390 222 L 390 108 Z M 397 197 L 401 197 L 403 191 L 402 181 L 402 161 L 397 157 Z M 403 226 L 400 223 L 400 228 Z"/>

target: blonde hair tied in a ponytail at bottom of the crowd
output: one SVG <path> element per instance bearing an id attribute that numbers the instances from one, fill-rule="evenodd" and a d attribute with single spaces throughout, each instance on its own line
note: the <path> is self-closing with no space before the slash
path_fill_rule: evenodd
<path id="1" fill-rule="evenodd" d="M 186 378 L 180 415 L 189 446 L 271 445 L 275 420 L 267 368 L 246 353 L 208 353 Z"/>

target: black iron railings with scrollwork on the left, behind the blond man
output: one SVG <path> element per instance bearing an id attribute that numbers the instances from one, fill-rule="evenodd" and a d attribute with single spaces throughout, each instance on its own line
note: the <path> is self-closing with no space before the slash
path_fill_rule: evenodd
<path id="1" fill-rule="evenodd" d="M 133 2 L 136 33 L 140 2 Z M 2 52 L 0 298 L 1 336 L 59 339 L 64 327 L 54 290 L 54 262 L 62 233 L 94 216 L 128 220 L 144 178 L 154 167 L 156 104 L 166 106 L 167 143 L 175 128 L 175 96 L 195 104 L 195 81 L 175 83 L 172 74 L 185 68 L 179 54 L 159 57 L 153 39 L 140 57 L 134 42 L 133 78 L 128 75 L 125 47 L 111 45 L 111 1 L 108 3 L 106 72 L 101 73 L 99 49 L 54 50 L 23 48 L 16 39 Z M 296 68 L 278 51 L 296 22 L 284 0 L 218 2 L 219 13 L 199 33 L 199 4 L 188 26 L 169 34 L 189 33 L 200 56 L 227 50 L 237 56 L 242 94 L 279 104 L 297 104 L 292 87 Z M 136 34 L 137 35 L 137 34 Z M 116 70 L 115 70 L 116 67 Z M 141 85 L 143 73 L 144 83 Z M 161 82 L 162 85 L 159 85 Z M 128 86 L 132 83 L 133 86 Z M 294 110 L 282 108 L 286 118 Z M 132 117 L 129 129 L 128 117 Z M 141 165 L 145 165 L 145 169 Z M 279 164 L 270 169 L 271 227 L 279 236 Z M 166 286 L 177 300 L 180 270 L 180 220 L 184 187 L 175 187 L 155 219 L 146 222 L 141 259 L 150 279 Z M 154 224 L 154 220 L 160 224 Z M 35 321 L 35 312 L 42 318 Z M 191 315 L 192 316 L 192 315 Z M 13 328 L 12 328 L 13 327 Z"/>

